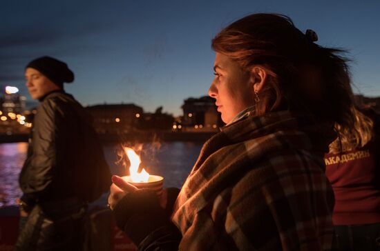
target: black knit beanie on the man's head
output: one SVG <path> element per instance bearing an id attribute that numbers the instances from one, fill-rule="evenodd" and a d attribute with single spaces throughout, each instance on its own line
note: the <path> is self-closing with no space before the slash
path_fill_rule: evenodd
<path id="1" fill-rule="evenodd" d="M 38 70 L 60 87 L 62 87 L 64 83 L 74 81 L 74 73 L 67 67 L 67 64 L 53 57 L 39 57 L 28 63 L 26 68 Z"/>

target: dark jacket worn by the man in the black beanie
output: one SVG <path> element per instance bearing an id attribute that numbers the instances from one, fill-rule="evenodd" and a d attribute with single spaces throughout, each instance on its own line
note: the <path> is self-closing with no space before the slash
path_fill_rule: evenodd
<path id="1" fill-rule="evenodd" d="M 30 208 L 69 197 L 92 201 L 108 190 L 111 174 L 91 123 L 70 94 L 51 92 L 41 101 L 19 177 Z"/>

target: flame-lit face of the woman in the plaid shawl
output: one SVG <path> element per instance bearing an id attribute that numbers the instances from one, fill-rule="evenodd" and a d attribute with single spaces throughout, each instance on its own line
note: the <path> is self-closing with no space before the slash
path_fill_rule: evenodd
<path id="1" fill-rule="evenodd" d="M 213 69 L 215 78 L 209 96 L 216 99 L 222 121 L 229 123 L 239 112 L 254 105 L 254 86 L 249 72 L 224 54 L 216 52 Z"/>

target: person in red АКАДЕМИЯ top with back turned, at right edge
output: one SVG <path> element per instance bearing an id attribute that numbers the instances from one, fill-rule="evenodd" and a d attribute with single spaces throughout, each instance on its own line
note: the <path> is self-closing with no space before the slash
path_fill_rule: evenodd
<path id="1" fill-rule="evenodd" d="M 325 155 L 335 196 L 337 250 L 380 250 L 380 115 L 354 109 L 355 126 L 341 130 Z"/>

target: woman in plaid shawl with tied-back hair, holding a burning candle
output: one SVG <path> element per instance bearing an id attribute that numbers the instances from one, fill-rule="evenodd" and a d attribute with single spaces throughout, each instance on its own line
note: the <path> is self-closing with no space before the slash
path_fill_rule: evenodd
<path id="1" fill-rule="evenodd" d="M 216 35 L 209 95 L 227 125 L 203 146 L 173 210 L 172 193 L 160 207 L 113 177 L 108 202 L 140 250 L 331 249 L 323 154 L 335 124 L 353 125 L 352 90 L 341 51 L 314 41 L 279 14 Z"/>

